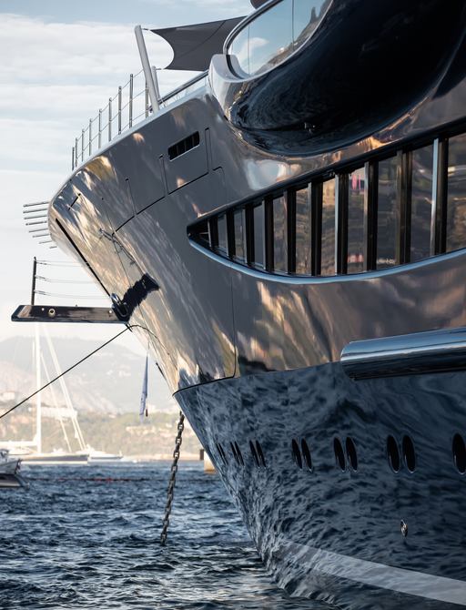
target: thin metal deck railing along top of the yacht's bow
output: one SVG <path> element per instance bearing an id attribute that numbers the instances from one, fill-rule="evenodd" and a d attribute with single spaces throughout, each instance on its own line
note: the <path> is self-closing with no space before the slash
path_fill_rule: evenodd
<path id="1" fill-rule="evenodd" d="M 204 86 L 207 78 L 208 73 L 203 72 L 161 97 L 160 108 L 167 107 Z M 140 70 L 137 74 L 129 75 L 127 83 L 118 86 L 116 95 L 109 97 L 106 106 L 99 108 L 96 116 L 89 118 L 86 127 L 81 129 L 71 149 L 71 168 L 77 168 L 114 137 L 147 118 L 152 112 L 147 82 L 143 70 Z"/>

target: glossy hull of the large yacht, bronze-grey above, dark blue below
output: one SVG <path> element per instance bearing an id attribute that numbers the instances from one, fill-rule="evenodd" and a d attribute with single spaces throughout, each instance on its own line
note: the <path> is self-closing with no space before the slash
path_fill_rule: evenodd
<path id="1" fill-rule="evenodd" d="M 148 341 L 270 573 L 351 610 L 466 605 L 466 359 L 447 331 L 466 327 L 466 243 L 447 252 L 435 229 L 431 258 L 304 276 L 228 257 L 191 229 L 311 181 L 348 184 L 372 158 L 400 158 L 404 176 L 407 147 L 433 142 L 441 158 L 466 124 L 457 25 L 435 77 L 422 71 L 421 98 L 356 130 L 326 123 L 327 148 L 325 130 L 316 144 L 309 127 L 293 139 L 238 125 L 231 100 L 254 104 L 260 83 L 238 85 L 214 57 L 208 86 L 76 168 L 50 206 L 56 243 Z M 198 144 L 171 158 L 184 138 Z M 370 340 L 388 341 L 377 357 Z"/>

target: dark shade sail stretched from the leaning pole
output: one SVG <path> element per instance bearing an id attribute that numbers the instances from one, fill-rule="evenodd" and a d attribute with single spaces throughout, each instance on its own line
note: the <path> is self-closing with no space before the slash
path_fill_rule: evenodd
<path id="1" fill-rule="evenodd" d="M 228 34 L 242 19 L 244 17 L 210 21 L 207 24 L 165 27 L 151 32 L 165 38 L 173 49 L 175 55 L 167 70 L 203 72 L 208 69 L 211 57 L 222 53 Z"/>

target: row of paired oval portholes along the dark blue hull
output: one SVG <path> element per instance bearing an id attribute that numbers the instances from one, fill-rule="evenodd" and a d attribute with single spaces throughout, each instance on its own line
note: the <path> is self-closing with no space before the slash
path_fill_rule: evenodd
<path id="1" fill-rule="evenodd" d="M 218 442 L 216 446 L 222 462 L 227 464 L 227 454 L 222 445 Z M 238 465 L 244 466 L 244 458 L 238 442 L 230 442 L 230 447 L 235 462 L 238 463 Z M 256 463 L 258 468 L 265 468 L 266 460 L 260 442 L 249 441 L 249 449 L 254 463 Z M 416 470 L 416 451 L 414 449 L 414 442 L 412 442 L 412 439 L 408 434 L 405 434 L 402 437 L 400 445 L 395 437 L 389 434 L 387 437 L 386 450 L 390 468 L 394 473 L 399 473 L 403 464 L 410 473 L 414 473 Z M 333 451 L 335 453 L 336 463 L 342 471 L 346 470 L 348 463 L 349 468 L 352 471 L 357 472 L 358 452 L 356 450 L 356 444 L 350 436 L 346 438 L 344 445 L 338 437 L 335 437 L 333 440 Z M 451 451 L 453 454 L 453 462 L 455 463 L 458 472 L 461 474 L 466 473 L 466 443 L 461 434 L 457 433 L 453 436 Z M 301 439 L 300 444 L 293 439 L 291 441 L 291 452 L 293 459 L 300 470 L 302 470 L 303 467 L 306 467 L 312 472 L 312 457 L 309 444 L 305 439 Z"/>

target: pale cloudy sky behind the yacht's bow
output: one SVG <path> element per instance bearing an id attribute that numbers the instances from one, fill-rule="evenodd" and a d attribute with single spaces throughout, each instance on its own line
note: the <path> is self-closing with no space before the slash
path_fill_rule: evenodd
<path id="1" fill-rule="evenodd" d="M 140 70 L 134 26 L 170 27 L 247 15 L 248 0 L 0 0 L 0 341 L 32 336 L 34 325 L 13 323 L 12 312 L 28 303 L 32 260 L 66 261 L 48 244 L 27 233 L 25 203 L 48 201 L 71 170 L 71 147 L 89 117 L 130 73 Z M 151 64 L 169 64 L 167 43 L 147 34 Z M 193 76 L 159 72 L 162 95 Z M 43 267 L 55 280 L 86 282 L 76 267 Z M 86 295 L 86 304 L 104 305 L 93 284 L 43 284 L 56 294 Z M 69 299 L 38 296 L 37 303 L 66 304 Z M 85 301 L 71 299 L 84 304 Z M 120 327 L 56 324 L 55 336 L 105 341 Z M 143 353 L 136 338 L 125 333 L 122 349 Z"/>

